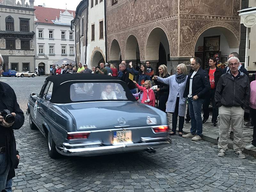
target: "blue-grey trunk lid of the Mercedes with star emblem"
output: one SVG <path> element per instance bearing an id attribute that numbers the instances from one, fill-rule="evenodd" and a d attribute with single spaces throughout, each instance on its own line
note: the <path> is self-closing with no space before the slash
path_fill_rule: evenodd
<path id="1" fill-rule="evenodd" d="M 161 123 L 153 108 L 131 101 L 98 101 L 65 105 L 82 130 L 154 126 Z"/>

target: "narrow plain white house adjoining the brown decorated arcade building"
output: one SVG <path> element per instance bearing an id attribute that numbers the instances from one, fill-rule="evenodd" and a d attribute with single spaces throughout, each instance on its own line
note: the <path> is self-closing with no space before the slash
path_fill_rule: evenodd
<path id="1" fill-rule="evenodd" d="M 107 62 L 105 36 L 105 0 L 89 0 L 88 6 L 88 67 Z"/>

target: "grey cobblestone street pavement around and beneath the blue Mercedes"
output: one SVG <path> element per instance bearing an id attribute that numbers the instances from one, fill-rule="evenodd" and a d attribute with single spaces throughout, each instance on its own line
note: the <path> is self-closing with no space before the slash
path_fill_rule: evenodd
<path id="1" fill-rule="evenodd" d="M 25 111 L 28 96 L 39 92 L 44 77 L 2 78 L 10 84 Z M 229 150 L 218 157 L 217 146 L 172 137 L 172 146 L 155 154 L 137 152 L 97 157 L 51 159 L 47 142 L 38 130 L 30 130 L 28 116 L 15 131 L 20 165 L 13 178 L 14 192 L 248 192 L 256 191 L 256 159 L 239 159 Z"/>

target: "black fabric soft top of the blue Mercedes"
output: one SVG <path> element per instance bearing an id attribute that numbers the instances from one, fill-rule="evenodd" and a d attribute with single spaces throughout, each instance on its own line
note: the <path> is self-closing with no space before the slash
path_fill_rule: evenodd
<path id="1" fill-rule="evenodd" d="M 135 101 L 135 98 L 132 96 L 128 86 L 123 81 L 119 80 L 116 77 L 101 75 L 101 74 L 62 74 L 62 75 L 53 75 L 46 78 L 47 81 L 53 83 L 53 91 L 51 102 L 52 103 L 74 103 L 70 100 L 70 85 L 74 83 L 88 83 L 93 81 L 98 81 L 99 83 L 118 83 L 121 84 L 126 92 L 126 97 L 128 100 Z M 107 83 L 107 82 L 106 82 Z"/>

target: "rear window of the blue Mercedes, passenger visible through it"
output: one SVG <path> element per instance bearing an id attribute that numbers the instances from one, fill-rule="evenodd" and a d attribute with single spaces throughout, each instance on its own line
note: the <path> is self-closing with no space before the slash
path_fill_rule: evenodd
<path id="1" fill-rule="evenodd" d="M 118 83 L 75 83 L 70 86 L 71 101 L 128 100 Z"/>

